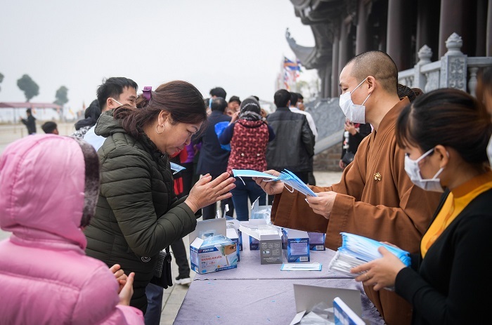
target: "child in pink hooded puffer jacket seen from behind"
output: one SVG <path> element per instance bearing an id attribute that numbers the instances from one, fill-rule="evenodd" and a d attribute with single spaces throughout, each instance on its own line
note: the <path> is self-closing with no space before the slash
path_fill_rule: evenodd
<path id="1" fill-rule="evenodd" d="M 128 305 L 133 274 L 119 288 L 84 253 L 98 188 L 98 157 L 82 140 L 33 135 L 6 148 L 0 227 L 12 235 L 0 241 L 0 324 L 143 324 Z"/>

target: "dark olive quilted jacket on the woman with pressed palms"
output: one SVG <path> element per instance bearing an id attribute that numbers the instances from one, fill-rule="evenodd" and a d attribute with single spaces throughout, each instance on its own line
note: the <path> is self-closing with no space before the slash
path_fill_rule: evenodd
<path id="1" fill-rule="evenodd" d="M 101 192 L 85 230 L 86 253 L 135 272 L 131 305 L 145 312 L 145 286 L 159 251 L 195 230 L 196 216 L 186 198 L 176 199 L 169 158 L 145 133 L 133 138 L 108 111 L 98 119 L 96 134 L 106 140 L 98 150 Z"/>

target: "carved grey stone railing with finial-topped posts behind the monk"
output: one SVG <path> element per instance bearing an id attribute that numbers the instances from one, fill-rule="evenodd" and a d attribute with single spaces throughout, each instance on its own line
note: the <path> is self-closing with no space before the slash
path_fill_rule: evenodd
<path id="1" fill-rule="evenodd" d="M 425 45 L 418 51 L 419 61 L 412 69 L 398 74 L 398 82 L 426 93 L 437 88 L 457 88 L 475 95 L 477 72 L 492 66 L 492 57 L 468 58 L 461 52 L 461 37 L 453 33 L 446 40 L 448 51 L 441 60 L 431 62 L 432 50 Z"/>

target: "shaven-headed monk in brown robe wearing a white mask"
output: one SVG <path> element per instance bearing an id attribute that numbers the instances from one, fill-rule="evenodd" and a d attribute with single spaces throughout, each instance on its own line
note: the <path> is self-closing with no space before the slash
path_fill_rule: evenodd
<path id="1" fill-rule="evenodd" d="M 362 53 L 347 63 L 340 74 L 340 87 L 342 94 L 351 93 L 347 106 L 352 107 L 345 106 L 344 113 L 356 119 L 354 123 L 370 123 L 374 131 L 361 142 L 340 183 L 311 187 L 318 197 L 307 197 L 309 203 L 302 193 L 284 190 L 281 182 L 257 178 L 267 194 L 276 194 L 272 223 L 326 232 L 325 246 L 332 250 L 342 245 L 339 233 L 350 232 L 389 241 L 410 253 L 419 251 L 440 194 L 413 185 L 405 172 L 405 153 L 396 145 L 394 129 L 409 100 L 400 100 L 397 80 L 398 69 L 384 52 Z M 278 175 L 277 171 L 266 173 Z M 374 291 L 368 286 L 364 290 L 387 324 L 410 324 L 412 312 L 406 300 L 387 290 Z"/>

